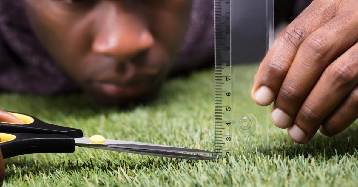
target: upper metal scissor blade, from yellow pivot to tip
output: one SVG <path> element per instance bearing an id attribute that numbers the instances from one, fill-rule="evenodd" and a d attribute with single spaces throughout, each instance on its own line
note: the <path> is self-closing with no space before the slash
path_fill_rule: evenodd
<path id="1" fill-rule="evenodd" d="M 213 152 L 210 151 L 190 149 L 184 147 L 148 146 L 148 145 L 122 144 L 122 143 L 108 144 L 107 147 L 143 149 L 143 150 L 153 150 L 153 151 L 173 151 L 173 152 L 195 153 L 195 154 L 214 154 Z"/>

